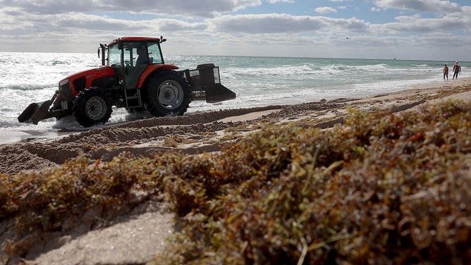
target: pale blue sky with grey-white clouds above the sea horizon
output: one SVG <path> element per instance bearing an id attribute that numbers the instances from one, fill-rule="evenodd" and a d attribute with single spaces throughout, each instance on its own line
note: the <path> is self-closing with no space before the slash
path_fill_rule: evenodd
<path id="1" fill-rule="evenodd" d="M 0 51 L 160 35 L 172 55 L 471 61 L 471 1 L 0 0 Z"/>

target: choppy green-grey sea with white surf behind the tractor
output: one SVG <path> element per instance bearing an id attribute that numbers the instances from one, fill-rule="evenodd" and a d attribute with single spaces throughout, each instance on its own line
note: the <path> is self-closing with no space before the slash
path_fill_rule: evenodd
<path id="1" fill-rule="evenodd" d="M 62 78 L 99 63 L 97 54 L 0 52 L 0 144 L 87 130 L 71 117 L 38 125 L 18 123 L 17 117 L 28 104 L 50 99 Z M 237 94 L 237 99 L 218 104 L 193 101 L 188 113 L 366 97 L 441 82 L 443 64 L 453 67 L 453 62 L 443 61 L 240 56 L 167 56 L 166 63 L 183 69 L 214 63 L 220 68 L 221 83 Z M 471 77 L 467 73 L 471 63 L 460 64 L 460 78 Z M 139 117 L 114 109 L 109 124 L 135 118 Z"/>

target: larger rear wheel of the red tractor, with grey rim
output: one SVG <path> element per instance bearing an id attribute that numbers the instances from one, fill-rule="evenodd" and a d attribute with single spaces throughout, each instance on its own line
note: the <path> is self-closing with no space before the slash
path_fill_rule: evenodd
<path id="1" fill-rule="evenodd" d="M 183 115 L 190 101 L 190 86 L 178 73 L 166 70 L 147 82 L 146 107 L 155 117 Z"/>

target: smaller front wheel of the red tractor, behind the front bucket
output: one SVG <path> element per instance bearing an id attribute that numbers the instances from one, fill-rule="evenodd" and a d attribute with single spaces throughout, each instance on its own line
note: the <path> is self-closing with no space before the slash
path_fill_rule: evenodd
<path id="1" fill-rule="evenodd" d="M 80 91 L 73 101 L 73 116 L 83 127 L 106 123 L 111 111 L 108 95 L 97 87 Z"/>

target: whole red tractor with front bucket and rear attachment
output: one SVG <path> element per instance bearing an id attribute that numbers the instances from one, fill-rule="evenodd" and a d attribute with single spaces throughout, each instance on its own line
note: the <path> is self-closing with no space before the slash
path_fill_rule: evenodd
<path id="1" fill-rule="evenodd" d="M 84 127 L 106 123 L 112 106 L 153 116 L 183 115 L 192 100 L 214 103 L 235 99 L 221 85 L 219 67 L 212 63 L 178 70 L 164 63 L 159 37 L 121 37 L 100 44 L 102 66 L 68 76 L 50 100 L 32 103 L 18 116 L 20 123 L 73 115 Z"/>

